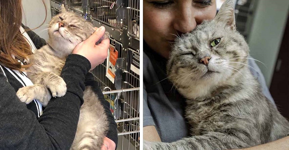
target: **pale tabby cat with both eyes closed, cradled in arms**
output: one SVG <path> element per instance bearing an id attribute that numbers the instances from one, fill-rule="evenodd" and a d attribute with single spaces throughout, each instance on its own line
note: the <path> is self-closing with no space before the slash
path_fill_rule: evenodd
<path id="1" fill-rule="evenodd" d="M 49 41 L 30 58 L 32 67 L 27 76 L 34 83 L 17 91 L 22 102 L 30 103 L 38 99 L 46 106 L 53 97 L 62 97 L 66 93 L 66 83 L 60 77 L 66 57 L 77 44 L 86 40 L 95 32 L 94 27 L 84 18 L 67 12 L 62 5 L 62 13 L 54 16 L 49 23 Z M 101 40 L 108 38 L 108 32 Z M 99 42 L 101 41 L 99 40 Z M 99 43 L 97 42 L 97 43 Z M 80 108 L 77 132 L 71 150 L 100 150 L 107 132 L 108 121 L 97 95 L 91 87 L 84 91 L 84 104 Z"/>

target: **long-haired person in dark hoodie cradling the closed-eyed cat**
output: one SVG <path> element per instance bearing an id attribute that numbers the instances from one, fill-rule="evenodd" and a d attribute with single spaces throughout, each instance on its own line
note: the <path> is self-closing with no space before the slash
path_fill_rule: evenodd
<path id="1" fill-rule="evenodd" d="M 107 57 L 109 40 L 95 45 L 104 34 L 104 27 L 68 55 L 61 73 L 67 92 L 63 97 L 52 98 L 44 108 L 38 100 L 25 104 L 16 95 L 19 88 L 32 85 L 25 73 L 31 65 L 27 63 L 29 55 L 46 44 L 21 21 L 21 0 L 0 2 L 0 149 L 70 149 L 86 84 L 99 95 L 108 116 L 109 131 L 102 150 L 116 149 L 117 130 L 110 105 L 88 72 Z"/>

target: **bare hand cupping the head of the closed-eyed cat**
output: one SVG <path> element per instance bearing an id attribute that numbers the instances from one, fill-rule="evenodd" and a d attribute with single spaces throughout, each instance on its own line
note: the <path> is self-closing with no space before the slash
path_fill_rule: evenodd
<path id="1" fill-rule="evenodd" d="M 78 54 L 87 58 L 91 64 L 91 69 L 103 63 L 108 56 L 109 39 L 102 40 L 101 43 L 95 43 L 103 36 L 105 28 L 95 28 L 96 31 L 88 39 L 79 43 L 73 50 L 73 54 Z"/>

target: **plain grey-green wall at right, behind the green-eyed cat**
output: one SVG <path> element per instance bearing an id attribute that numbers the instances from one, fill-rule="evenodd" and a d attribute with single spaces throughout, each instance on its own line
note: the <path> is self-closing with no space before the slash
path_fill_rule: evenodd
<path id="1" fill-rule="evenodd" d="M 249 35 L 250 54 L 258 63 L 269 87 L 288 15 L 288 0 L 259 0 Z"/>

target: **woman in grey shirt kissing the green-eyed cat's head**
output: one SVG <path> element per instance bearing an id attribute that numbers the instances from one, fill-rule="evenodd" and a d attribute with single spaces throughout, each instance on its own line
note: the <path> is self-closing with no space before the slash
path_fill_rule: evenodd
<path id="1" fill-rule="evenodd" d="M 185 98 L 167 79 L 166 64 L 171 44 L 181 34 L 191 32 L 203 20 L 216 16 L 215 0 L 144 0 L 144 140 L 174 142 L 189 136 L 191 128 L 184 118 Z M 249 59 L 251 73 L 262 86 L 263 94 L 274 104 L 256 63 Z M 178 83 L 176 83 L 178 84 Z M 161 109 L 160 109 L 161 108 Z M 282 149 L 289 138 L 248 149 Z"/>

